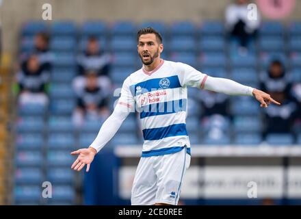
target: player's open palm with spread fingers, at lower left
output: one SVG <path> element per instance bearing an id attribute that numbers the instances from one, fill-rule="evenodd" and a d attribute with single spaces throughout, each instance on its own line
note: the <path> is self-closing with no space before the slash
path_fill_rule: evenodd
<path id="1" fill-rule="evenodd" d="M 71 168 L 73 170 L 80 171 L 86 164 L 87 164 L 87 169 L 86 172 L 89 171 L 90 169 L 90 164 L 92 163 L 95 152 L 89 149 L 79 149 L 77 151 L 73 151 L 71 155 L 79 155 L 75 162 L 73 162 Z"/>

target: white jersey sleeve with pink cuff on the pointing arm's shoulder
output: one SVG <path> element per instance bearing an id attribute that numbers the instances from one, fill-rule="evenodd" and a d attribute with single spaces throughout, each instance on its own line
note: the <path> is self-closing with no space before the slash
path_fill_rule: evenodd
<path id="1" fill-rule="evenodd" d="M 207 75 L 196 70 L 192 66 L 177 62 L 179 80 L 182 87 L 194 87 L 203 89 Z"/>

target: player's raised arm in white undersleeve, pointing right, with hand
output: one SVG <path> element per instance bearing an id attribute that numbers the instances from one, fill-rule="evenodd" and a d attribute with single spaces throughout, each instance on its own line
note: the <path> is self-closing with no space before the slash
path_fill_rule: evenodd
<path id="1" fill-rule="evenodd" d="M 257 101 L 261 103 L 261 107 L 267 107 L 271 103 L 280 105 L 280 103 L 272 99 L 270 94 L 257 90 L 256 88 L 244 86 L 230 79 L 206 76 L 202 81 L 201 87 L 205 90 L 211 90 L 228 95 L 254 96 Z"/>

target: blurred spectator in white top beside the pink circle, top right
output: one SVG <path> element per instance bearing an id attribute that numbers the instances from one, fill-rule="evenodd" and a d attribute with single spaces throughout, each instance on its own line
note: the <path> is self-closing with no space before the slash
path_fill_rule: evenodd
<path id="1" fill-rule="evenodd" d="M 226 29 L 231 37 L 239 40 L 240 53 L 246 53 L 248 43 L 256 37 L 261 23 L 261 16 L 257 10 L 257 19 L 250 19 L 248 0 L 236 0 L 235 3 L 226 8 Z"/>

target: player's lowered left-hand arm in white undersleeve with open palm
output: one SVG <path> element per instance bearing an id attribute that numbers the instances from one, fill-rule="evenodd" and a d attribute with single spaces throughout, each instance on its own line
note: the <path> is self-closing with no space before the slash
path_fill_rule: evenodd
<path id="1" fill-rule="evenodd" d="M 86 164 L 88 172 L 90 169 L 90 164 L 92 163 L 94 156 L 96 153 L 101 151 L 101 149 L 113 138 L 115 133 L 120 128 L 122 122 L 129 115 L 130 109 L 129 107 L 118 103 L 112 113 L 105 123 L 101 126 L 98 135 L 96 136 L 94 142 L 90 144 L 88 149 L 79 149 L 77 151 L 73 151 L 71 155 L 78 155 L 75 162 L 72 164 L 71 168 L 74 170 L 81 170 Z"/>

